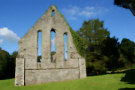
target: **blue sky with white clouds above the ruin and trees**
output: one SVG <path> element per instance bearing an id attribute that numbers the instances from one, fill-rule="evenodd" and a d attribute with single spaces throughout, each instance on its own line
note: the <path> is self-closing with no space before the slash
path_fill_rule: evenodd
<path id="1" fill-rule="evenodd" d="M 122 40 L 135 42 L 135 16 L 113 0 L 0 0 L 0 47 L 10 54 L 18 50 L 18 41 L 51 6 L 56 5 L 73 30 L 84 21 L 99 19 L 104 27 Z M 53 40 L 52 40 L 53 41 Z"/>

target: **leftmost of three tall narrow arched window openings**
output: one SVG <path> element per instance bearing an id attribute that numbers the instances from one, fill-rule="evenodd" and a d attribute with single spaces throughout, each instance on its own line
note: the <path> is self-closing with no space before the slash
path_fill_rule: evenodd
<path id="1" fill-rule="evenodd" d="M 41 62 L 42 61 L 42 31 L 39 30 L 38 31 L 38 58 L 37 58 L 37 62 Z"/>

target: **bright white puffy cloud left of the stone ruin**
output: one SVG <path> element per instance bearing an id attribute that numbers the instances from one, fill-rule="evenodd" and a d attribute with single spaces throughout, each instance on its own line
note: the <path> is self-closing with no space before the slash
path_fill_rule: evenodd
<path id="1" fill-rule="evenodd" d="M 10 42 L 18 42 L 20 37 L 7 27 L 0 28 L 0 37 Z"/>

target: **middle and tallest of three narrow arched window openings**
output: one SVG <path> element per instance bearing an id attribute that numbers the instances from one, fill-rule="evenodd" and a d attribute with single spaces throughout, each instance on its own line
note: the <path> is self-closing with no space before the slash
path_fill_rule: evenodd
<path id="1" fill-rule="evenodd" d="M 51 30 L 51 62 L 55 62 L 56 61 L 56 33 L 55 30 L 52 29 Z"/>

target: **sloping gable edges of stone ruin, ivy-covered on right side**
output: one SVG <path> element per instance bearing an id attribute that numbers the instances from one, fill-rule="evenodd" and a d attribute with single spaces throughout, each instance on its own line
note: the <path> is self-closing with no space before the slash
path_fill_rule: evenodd
<path id="1" fill-rule="evenodd" d="M 45 18 L 45 15 L 47 14 L 47 12 L 48 12 L 49 10 L 51 10 L 51 11 L 52 11 L 52 10 L 56 10 L 56 11 L 59 12 L 59 14 L 61 15 L 61 17 L 64 19 L 64 21 L 66 22 L 66 24 L 67 24 L 68 27 L 69 27 L 69 30 L 70 30 L 71 35 L 72 35 L 72 38 L 73 38 L 73 43 L 74 43 L 74 45 L 75 45 L 75 47 L 76 47 L 77 52 L 78 52 L 82 57 L 85 57 L 85 53 L 84 53 L 84 52 L 85 52 L 86 44 L 85 44 L 83 38 L 80 37 L 80 36 L 70 27 L 69 23 L 68 23 L 67 20 L 65 19 L 64 15 L 61 14 L 61 12 L 58 10 L 57 6 L 55 6 L 55 5 L 50 6 L 50 7 L 45 11 L 45 13 L 36 21 L 36 23 L 35 23 L 31 28 L 33 28 L 34 26 L 36 26 L 36 24 L 37 24 L 38 22 L 40 22 L 40 20 L 44 19 L 44 18 Z M 29 30 L 29 31 L 30 31 L 30 30 Z M 26 35 L 29 33 L 29 31 L 26 33 Z M 25 35 L 25 36 L 26 36 L 26 35 Z M 25 36 L 24 36 L 24 37 L 25 37 Z M 23 39 L 23 38 L 22 38 L 22 39 Z M 22 39 L 21 39 L 21 40 L 22 40 Z M 21 40 L 20 40 L 19 42 L 21 42 Z"/>

